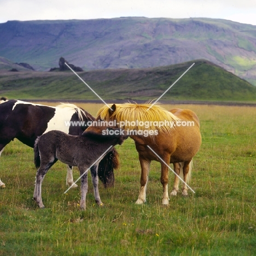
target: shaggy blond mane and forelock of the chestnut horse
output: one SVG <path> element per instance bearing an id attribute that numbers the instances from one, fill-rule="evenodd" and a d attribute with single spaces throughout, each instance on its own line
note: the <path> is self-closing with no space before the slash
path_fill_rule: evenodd
<path id="1" fill-rule="evenodd" d="M 122 126 L 125 130 L 158 130 L 159 132 L 171 132 L 173 126 L 170 125 L 170 122 L 175 123 L 180 120 L 174 114 L 156 104 L 152 106 L 152 104 L 125 103 L 115 104 L 115 106 L 116 109 L 113 113 L 109 112 L 107 106 L 102 107 L 98 110 L 97 117 L 102 120 L 116 120 L 117 124 L 120 123 L 120 121 L 127 121 L 126 124 Z M 152 107 L 148 110 L 150 106 Z M 131 125 L 131 122 L 136 122 L 136 120 L 137 124 L 141 121 L 144 125 Z M 156 122 L 162 125 L 156 126 Z M 164 122 L 164 124 L 160 122 Z"/>

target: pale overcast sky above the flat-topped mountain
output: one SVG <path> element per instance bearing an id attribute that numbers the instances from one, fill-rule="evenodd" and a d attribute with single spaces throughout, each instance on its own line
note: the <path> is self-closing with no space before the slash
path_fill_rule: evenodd
<path id="1" fill-rule="evenodd" d="M 256 25 L 256 0 L 0 0 L 0 23 L 120 16 L 218 18 Z"/>

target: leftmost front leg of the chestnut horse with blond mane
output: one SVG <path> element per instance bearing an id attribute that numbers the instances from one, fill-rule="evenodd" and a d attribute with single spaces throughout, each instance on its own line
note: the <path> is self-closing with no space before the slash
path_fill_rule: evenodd
<path id="1" fill-rule="evenodd" d="M 146 160 L 142 158 L 142 156 L 139 156 L 139 163 L 141 164 L 141 189 L 139 190 L 138 200 L 136 201 L 137 205 L 141 205 L 142 203 L 146 202 L 150 162 L 150 160 Z"/>

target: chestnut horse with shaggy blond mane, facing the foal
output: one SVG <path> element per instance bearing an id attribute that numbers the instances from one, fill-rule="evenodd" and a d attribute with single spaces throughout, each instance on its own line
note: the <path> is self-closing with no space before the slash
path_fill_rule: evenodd
<path id="1" fill-rule="evenodd" d="M 168 205 L 168 166 L 173 164 L 174 185 L 171 195 L 177 195 L 179 177 L 183 174 L 182 195 L 188 195 L 188 181 L 192 160 L 201 146 L 200 123 L 190 109 L 173 108 L 169 111 L 152 104 L 113 104 L 98 110 L 97 118 L 112 121 L 129 131 L 135 141 L 141 165 L 141 189 L 137 204 L 146 202 L 146 189 L 151 161 L 161 163 L 161 184 L 164 191 L 162 205 Z M 115 121 L 115 122 L 113 122 Z"/>

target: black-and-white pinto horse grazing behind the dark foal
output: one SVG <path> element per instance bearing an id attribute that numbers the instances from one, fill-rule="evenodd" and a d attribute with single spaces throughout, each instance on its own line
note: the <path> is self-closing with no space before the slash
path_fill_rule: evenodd
<path id="1" fill-rule="evenodd" d="M 50 107 L 9 100 L 0 104 L 0 156 L 4 147 L 14 138 L 33 148 L 36 138 L 45 132 L 60 130 L 70 135 L 81 135 L 88 127 L 86 124 L 94 120 L 91 114 L 74 104 L 62 103 L 57 107 Z M 98 166 L 98 175 L 104 187 L 113 186 L 113 168 L 118 166 L 119 155 L 113 148 Z M 66 183 L 69 186 L 73 184 L 72 166 L 67 166 Z M 5 187 L 1 179 L 0 187 Z"/>

